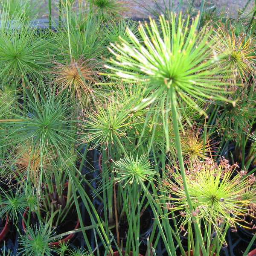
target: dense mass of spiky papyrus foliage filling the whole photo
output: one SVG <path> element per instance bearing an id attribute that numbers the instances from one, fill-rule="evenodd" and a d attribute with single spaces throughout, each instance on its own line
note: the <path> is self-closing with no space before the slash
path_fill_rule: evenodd
<path id="1" fill-rule="evenodd" d="M 196 17 L 193 9 L 176 15 L 169 1 L 166 9 L 157 6 L 163 16 L 151 10 L 157 20 L 137 26 L 121 18 L 123 4 L 59 1 L 60 23 L 53 33 L 31 26 L 41 1 L 0 3 L 0 175 L 18 184 L 17 191 L 0 193 L 0 216 L 8 213 L 16 223 L 29 206 L 28 215 L 44 222 L 20 235 L 20 255 L 88 256 L 87 250 L 64 243 L 58 250 L 49 246 L 52 226 L 74 204 L 90 255 L 85 230 L 93 228 L 96 246 L 101 240 L 110 254 L 109 223 L 119 224 L 114 215 L 128 218 L 125 249 L 138 255 L 144 207 L 155 221 L 148 248 L 154 251 L 161 237 L 167 254 L 176 255 L 179 230 L 165 217 L 180 211 L 177 224 L 187 224 L 189 247 L 197 255 L 209 256 L 210 250 L 218 255 L 227 228 L 255 204 L 254 189 L 244 190 L 248 183 L 254 188 L 254 170 L 236 175 L 227 161 L 207 158 L 217 134 L 222 140 L 214 145 L 217 152 L 235 141 L 241 166 L 255 163 L 253 17 L 228 20 L 205 1 Z M 254 144 L 245 154 L 248 137 Z M 76 169 L 78 146 L 84 143 L 81 162 L 89 161 L 88 148 L 102 152 L 97 189 L 80 173 L 82 166 Z M 93 196 L 104 202 L 104 216 L 97 214 Z M 81 201 L 91 226 L 83 226 Z M 119 241 L 116 245 L 121 250 Z M 180 250 L 184 255 L 181 245 Z"/>

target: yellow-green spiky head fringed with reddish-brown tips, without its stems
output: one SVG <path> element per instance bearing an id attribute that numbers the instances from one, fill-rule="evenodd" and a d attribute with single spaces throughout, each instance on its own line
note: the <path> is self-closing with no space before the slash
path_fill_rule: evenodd
<path id="1" fill-rule="evenodd" d="M 208 225 L 211 225 L 216 235 L 221 237 L 221 228 L 226 225 L 235 226 L 236 219 L 243 215 L 250 205 L 252 196 L 245 196 L 248 193 L 245 188 L 250 184 L 252 189 L 255 186 L 254 175 L 246 178 L 245 171 L 234 175 L 236 166 L 230 166 L 225 159 L 219 164 L 207 159 L 195 162 L 189 167 L 186 177 L 193 208 L 191 213 L 183 180 L 177 169 L 168 167 L 168 177 L 160 184 L 160 189 L 169 195 L 165 207 L 172 212 L 181 212 L 182 226 L 191 222 L 193 215 L 198 222 L 203 221 L 206 230 Z"/>

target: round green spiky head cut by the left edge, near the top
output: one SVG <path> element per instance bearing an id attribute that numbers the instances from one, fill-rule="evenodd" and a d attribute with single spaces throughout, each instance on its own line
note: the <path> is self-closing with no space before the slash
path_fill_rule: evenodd
<path id="1" fill-rule="evenodd" d="M 27 81 L 40 76 L 49 64 L 47 49 L 50 39 L 47 32 L 40 32 L 20 18 L 10 18 L 0 23 L 0 76 L 2 81 Z M 15 88 L 16 89 L 16 88 Z"/>

